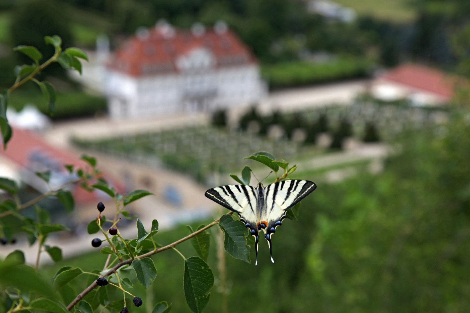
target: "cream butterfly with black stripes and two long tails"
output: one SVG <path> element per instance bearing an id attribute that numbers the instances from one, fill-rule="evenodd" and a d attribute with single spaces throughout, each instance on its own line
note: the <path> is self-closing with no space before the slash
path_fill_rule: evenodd
<path id="1" fill-rule="evenodd" d="M 308 196 L 317 186 L 308 180 L 284 180 L 266 187 L 262 183 L 249 185 L 226 185 L 209 189 L 205 196 L 230 211 L 237 213 L 245 227 L 255 237 L 256 263 L 258 265 L 258 235 L 263 230 L 269 245 L 271 261 L 273 250 L 271 237 L 282 225 L 286 211 Z"/>

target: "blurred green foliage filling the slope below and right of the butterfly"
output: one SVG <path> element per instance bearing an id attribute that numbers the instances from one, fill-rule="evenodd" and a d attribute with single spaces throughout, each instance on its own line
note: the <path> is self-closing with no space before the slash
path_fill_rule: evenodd
<path id="1" fill-rule="evenodd" d="M 368 174 L 364 164 L 360 175 L 329 185 L 319 181 L 320 173 L 299 168 L 293 178 L 313 180 L 318 188 L 302 201 L 298 221 L 286 220 L 276 229 L 274 264 L 264 243 L 257 267 L 227 257 L 229 311 L 467 312 L 469 135 L 470 111 L 454 108 L 445 126 L 394 140 L 397 153 L 380 174 Z M 166 244 L 186 234 L 182 225 L 155 239 Z M 215 246 L 212 242 L 208 261 L 214 269 Z M 180 251 L 194 254 L 189 243 Z M 45 270 L 54 273 L 71 262 L 92 269 L 104 258 L 88 254 Z M 172 312 L 187 312 L 180 257 L 167 252 L 155 262 L 153 301 L 171 299 Z M 206 312 L 219 311 L 218 290 L 212 290 Z"/>

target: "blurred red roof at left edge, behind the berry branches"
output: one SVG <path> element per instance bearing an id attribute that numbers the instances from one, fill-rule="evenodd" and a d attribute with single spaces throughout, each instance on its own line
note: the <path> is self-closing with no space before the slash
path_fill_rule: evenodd
<path id="1" fill-rule="evenodd" d="M 81 160 L 78 155 L 47 144 L 38 134 L 32 131 L 17 129 L 14 127 L 12 127 L 12 129 L 13 135 L 8 142 L 7 149 L 3 150 L 2 146 L 0 155 L 7 157 L 22 168 L 31 170 L 31 168 L 29 168 L 29 158 L 31 153 L 41 153 L 42 155 L 46 155 L 50 160 L 54 160 L 61 166 L 65 164 L 73 164 L 75 169 L 82 168 L 83 170 L 90 167 L 88 163 Z M 64 167 L 63 170 L 66 171 Z M 106 177 L 110 182 L 112 181 L 115 188 L 121 192 L 122 186 L 120 183 L 116 186 L 116 181 L 114 179 L 110 179 L 109 175 L 103 173 L 102 176 Z M 73 187 L 72 193 L 75 198 L 75 202 L 78 204 L 90 202 L 98 203 L 100 201 L 100 197 L 98 197 L 95 192 L 86 191 L 78 185 Z"/>

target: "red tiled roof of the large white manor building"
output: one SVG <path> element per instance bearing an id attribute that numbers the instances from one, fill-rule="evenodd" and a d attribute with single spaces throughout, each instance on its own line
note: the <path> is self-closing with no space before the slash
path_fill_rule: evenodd
<path id="1" fill-rule="evenodd" d="M 256 62 L 250 49 L 230 30 L 223 33 L 210 30 L 200 36 L 186 30 L 172 29 L 172 32 L 171 36 L 165 35 L 164 29 L 154 27 L 147 38 L 127 39 L 114 53 L 108 67 L 132 76 L 176 72 L 176 59 L 195 48 L 208 49 L 216 59 L 216 67 Z M 144 73 L 144 66 L 152 70 Z"/>

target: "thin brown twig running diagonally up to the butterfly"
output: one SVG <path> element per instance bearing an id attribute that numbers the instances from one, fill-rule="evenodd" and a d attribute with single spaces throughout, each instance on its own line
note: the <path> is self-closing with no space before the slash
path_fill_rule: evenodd
<path id="1" fill-rule="evenodd" d="M 233 212 L 229 212 L 227 213 L 228 215 L 231 215 L 233 214 Z M 209 225 L 207 225 L 206 227 L 203 227 L 199 230 L 196 230 L 194 233 L 192 234 L 189 234 L 188 236 L 186 237 L 183 237 L 181 238 L 180 240 L 177 240 L 175 241 L 174 243 L 172 244 L 167 244 L 165 245 L 164 247 L 161 247 L 161 248 L 158 248 L 156 250 L 153 250 L 153 251 L 150 251 L 150 252 L 147 252 L 145 254 L 142 254 L 142 255 L 139 255 L 137 257 L 135 257 L 135 259 L 143 259 L 143 258 L 147 258 L 147 257 L 150 257 L 154 254 L 157 254 L 157 253 L 160 253 L 160 252 L 163 252 L 165 250 L 168 250 L 168 249 L 171 249 L 171 248 L 174 248 L 176 245 L 182 243 L 182 242 L 185 242 L 186 240 L 188 239 L 191 239 L 192 237 L 195 237 L 197 236 L 198 234 L 202 233 L 203 231 L 207 230 L 207 229 L 210 229 L 212 226 L 214 226 L 215 224 L 217 224 L 218 222 L 220 221 L 220 218 L 216 221 L 213 221 L 211 222 Z M 113 273 L 115 273 L 119 267 L 122 267 L 124 265 L 129 265 L 132 263 L 132 259 L 127 259 L 127 260 L 124 260 L 122 262 L 119 262 L 118 264 L 116 264 L 113 268 L 111 268 L 108 272 L 106 272 L 106 274 L 102 275 L 102 277 L 106 277 L 108 275 L 111 275 Z M 85 290 L 83 290 L 82 292 L 80 292 L 80 294 L 69 304 L 67 305 L 67 309 L 70 311 L 74 305 L 76 305 L 83 297 L 85 297 L 91 290 L 94 290 L 96 287 L 98 286 L 98 284 L 96 283 L 96 281 L 92 282 L 88 287 L 86 287 Z"/>

